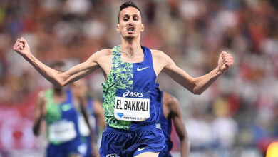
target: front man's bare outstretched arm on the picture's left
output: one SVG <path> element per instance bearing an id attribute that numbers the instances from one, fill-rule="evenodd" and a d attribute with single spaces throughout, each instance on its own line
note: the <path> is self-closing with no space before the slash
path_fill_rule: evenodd
<path id="1" fill-rule="evenodd" d="M 95 53 L 87 61 L 73 66 L 68 71 L 62 73 L 55 69 L 51 69 L 49 66 L 46 66 L 36 59 L 36 57 L 31 54 L 30 47 L 24 38 L 16 40 L 14 51 L 23 56 L 26 61 L 29 61 L 29 63 L 34 66 L 44 78 L 53 83 L 54 86 L 58 87 L 65 86 L 66 84 L 76 81 L 98 69 L 99 66 L 96 60 L 101 54 Z"/>

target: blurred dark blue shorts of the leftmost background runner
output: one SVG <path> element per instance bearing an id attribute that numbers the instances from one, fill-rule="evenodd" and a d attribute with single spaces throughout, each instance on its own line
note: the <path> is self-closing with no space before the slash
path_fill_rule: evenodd
<path id="1" fill-rule="evenodd" d="M 71 154 L 82 154 L 82 143 L 79 139 L 58 145 L 49 143 L 46 153 L 47 157 L 63 157 Z"/>

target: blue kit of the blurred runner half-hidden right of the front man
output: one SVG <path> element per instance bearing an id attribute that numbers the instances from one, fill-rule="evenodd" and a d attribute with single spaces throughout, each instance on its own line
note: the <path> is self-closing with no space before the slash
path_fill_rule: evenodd
<path id="1" fill-rule="evenodd" d="M 161 91 L 160 115 L 156 126 L 163 131 L 165 138 L 165 147 L 163 148 L 163 151 L 160 152 L 160 156 L 171 156 L 170 151 L 173 147 L 173 142 L 171 141 L 172 121 L 171 119 L 165 118 L 163 114 L 163 91 Z"/>

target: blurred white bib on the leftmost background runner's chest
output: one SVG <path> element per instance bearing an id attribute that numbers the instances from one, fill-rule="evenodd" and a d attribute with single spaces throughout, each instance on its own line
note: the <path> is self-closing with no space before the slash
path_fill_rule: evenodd
<path id="1" fill-rule="evenodd" d="M 58 121 L 49 126 L 49 140 L 63 143 L 76 138 L 76 129 L 72 121 Z"/>

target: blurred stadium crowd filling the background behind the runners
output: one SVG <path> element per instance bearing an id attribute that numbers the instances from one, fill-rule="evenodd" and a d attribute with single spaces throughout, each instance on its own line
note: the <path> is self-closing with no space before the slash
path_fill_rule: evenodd
<path id="1" fill-rule="evenodd" d="M 16 39 L 24 36 L 31 52 L 43 63 L 63 59 L 70 68 L 98 50 L 120 44 L 115 26 L 121 3 L 119 0 L 0 0 L 0 151 L 20 148 L 18 144 L 4 146 L 9 141 L 5 122 L 11 115 L 18 115 L 29 123 L 38 91 L 50 86 L 13 51 Z M 234 56 L 232 69 L 201 96 L 189 93 L 165 74 L 159 76 L 160 88 L 180 101 L 191 155 L 263 156 L 268 144 L 278 140 L 278 92 L 275 91 L 278 1 L 137 0 L 135 3 L 143 11 L 145 24 L 141 44 L 164 51 L 191 76 L 215 69 L 222 50 Z M 97 71 L 87 77 L 91 90 L 100 99 L 104 81 L 101 75 Z M 8 109 L 10 112 L 4 113 Z M 24 127 L 28 125 L 31 124 Z M 11 138 L 32 136 L 18 130 Z"/>

